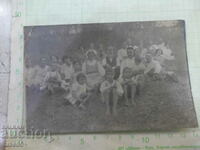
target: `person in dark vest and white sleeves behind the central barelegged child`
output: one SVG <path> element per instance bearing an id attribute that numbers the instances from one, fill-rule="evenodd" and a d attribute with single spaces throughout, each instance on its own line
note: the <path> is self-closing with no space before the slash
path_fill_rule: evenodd
<path id="1" fill-rule="evenodd" d="M 108 66 L 108 67 L 111 67 L 114 70 L 114 72 L 115 72 L 114 79 L 115 80 L 117 80 L 119 78 L 120 61 L 114 53 L 114 47 L 112 47 L 112 46 L 108 47 L 107 56 L 103 59 L 102 64 L 103 64 L 104 67 Z"/>

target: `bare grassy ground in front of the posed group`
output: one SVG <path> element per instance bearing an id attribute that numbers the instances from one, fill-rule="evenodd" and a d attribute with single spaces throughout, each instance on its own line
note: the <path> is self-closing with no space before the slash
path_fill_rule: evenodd
<path id="1" fill-rule="evenodd" d="M 135 106 L 124 106 L 121 98 L 118 115 L 106 116 L 105 104 L 93 95 L 86 110 L 65 105 L 63 93 L 27 93 L 27 127 L 48 129 L 52 133 L 170 130 L 196 127 L 189 82 L 145 82 Z"/>

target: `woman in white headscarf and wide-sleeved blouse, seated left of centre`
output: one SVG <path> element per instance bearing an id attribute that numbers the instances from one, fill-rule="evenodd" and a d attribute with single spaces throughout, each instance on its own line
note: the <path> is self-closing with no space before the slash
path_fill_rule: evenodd
<path id="1" fill-rule="evenodd" d="M 97 52 L 90 49 L 86 52 L 86 60 L 82 65 L 82 71 L 87 76 L 88 85 L 97 89 L 105 75 L 103 66 L 97 61 Z"/>

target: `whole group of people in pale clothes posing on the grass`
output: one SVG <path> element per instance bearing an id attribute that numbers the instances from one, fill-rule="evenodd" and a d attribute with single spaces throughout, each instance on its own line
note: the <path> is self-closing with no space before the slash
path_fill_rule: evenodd
<path id="1" fill-rule="evenodd" d="M 100 56 L 101 55 L 101 56 Z M 71 105 L 85 109 L 92 94 L 99 94 L 106 106 L 106 114 L 117 114 L 119 97 L 126 106 L 135 105 L 135 96 L 140 95 L 146 78 L 161 80 L 167 77 L 176 80 L 173 71 L 166 70 L 165 61 L 173 60 L 172 51 L 164 42 L 148 48 L 123 44 L 116 50 L 109 46 L 95 50 L 94 44 L 83 56 L 84 61 L 63 56 L 41 58 L 39 65 L 26 60 L 26 86 L 54 94 L 64 91 L 64 99 Z"/>

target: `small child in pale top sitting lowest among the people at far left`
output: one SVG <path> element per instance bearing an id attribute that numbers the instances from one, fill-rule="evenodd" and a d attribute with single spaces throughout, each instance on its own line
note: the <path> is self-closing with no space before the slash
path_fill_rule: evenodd
<path id="1" fill-rule="evenodd" d="M 54 94 L 55 90 L 58 89 L 62 83 L 61 76 L 59 74 L 58 68 L 56 65 L 51 65 L 49 71 L 47 72 L 44 78 L 44 85 L 40 89 L 47 89 L 50 94 Z"/>

